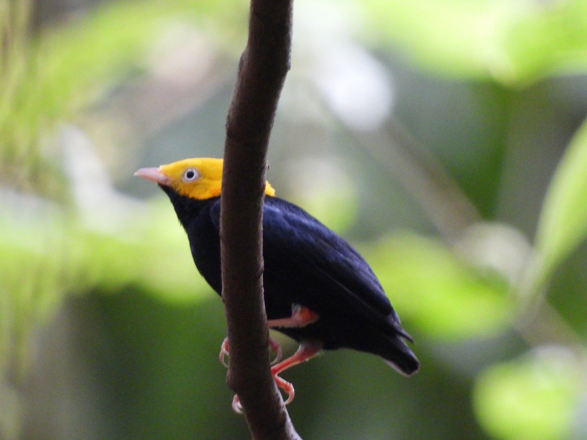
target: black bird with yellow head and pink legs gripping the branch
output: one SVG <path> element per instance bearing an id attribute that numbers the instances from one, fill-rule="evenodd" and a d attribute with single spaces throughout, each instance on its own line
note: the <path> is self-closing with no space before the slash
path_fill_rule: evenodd
<path id="1" fill-rule="evenodd" d="M 196 268 L 219 295 L 220 158 L 189 158 L 135 175 L 163 189 L 187 233 Z M 271 372 L 275 383 L 294 398 L 292 384 L 279 377 L 284 370 L 323 350 L 350 348 L 375 354 L 409 377 L 420 362 L 407 346 L 413 343 L 366 260 L 348 242 L 308 212 L 275 195 L 266 182 L 262 215 L 264 293 L 268 327 L 291 337 L 299 348 L 281 358 L 279 344 Z M 230 344 L 221 345 L 224 363 Z M 238 395 L 232 407 L 241 412 Z"/>

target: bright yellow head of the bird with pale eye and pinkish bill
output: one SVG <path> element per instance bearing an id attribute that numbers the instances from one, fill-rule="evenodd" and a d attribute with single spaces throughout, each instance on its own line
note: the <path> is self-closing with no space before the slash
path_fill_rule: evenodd
<path id="1" fill-rule="evenodd" d="M 184 159 L 158 168 L 141 168 L 134 175 L 173 188 L 178 194 L 204 200 L 220 195 L 222 159 Z M 266 182 L 265 194 L 275 195 L 269 182 Z"/>

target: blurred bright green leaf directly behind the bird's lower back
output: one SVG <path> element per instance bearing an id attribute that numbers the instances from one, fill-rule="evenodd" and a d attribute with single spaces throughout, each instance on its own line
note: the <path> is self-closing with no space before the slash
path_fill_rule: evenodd
<path id="1" fill-rule="evenodd" d="M 508 325 L 506 283 L 476 272 L 437 240 L 395 235 L 365 256 L 400 316 L 432 338 L 487 336 Z"/>

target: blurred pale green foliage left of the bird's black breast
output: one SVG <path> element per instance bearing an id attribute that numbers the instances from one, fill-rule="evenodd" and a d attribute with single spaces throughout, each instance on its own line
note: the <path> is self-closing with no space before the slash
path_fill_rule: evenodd
<path id="1" fill-rule="evenodd" d="M 168 203 L 139 208 L 126 225 L 107 233 L 85 228 L 57 204 L 11 197 L 1 200 L 0 371 L 14 357 L 16 371 L 26 372 L 33 329 L 66 293 L 140 286 L 171 303 L 215 295 L 197 273 Z"/>

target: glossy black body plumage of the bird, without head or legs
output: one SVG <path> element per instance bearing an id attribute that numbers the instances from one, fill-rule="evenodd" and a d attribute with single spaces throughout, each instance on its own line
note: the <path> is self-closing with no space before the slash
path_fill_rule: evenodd
<path id="1" fill-rule="evenodd" d="M 195 265 L 219 294 L 220 197 L 196 200 L 161 185 L 190 240 Z M 377 277 L 346 241 L 303 209 L 265 197 L 263 211 L 265 309 L 268 319 L 291 316 L 300 304 L 318 313 L 302 328 L 276 329 L 301 342 L 321 341 L 325 350 L 353 348 L 377 354 L 401 373 L 419 361 Z"/>

